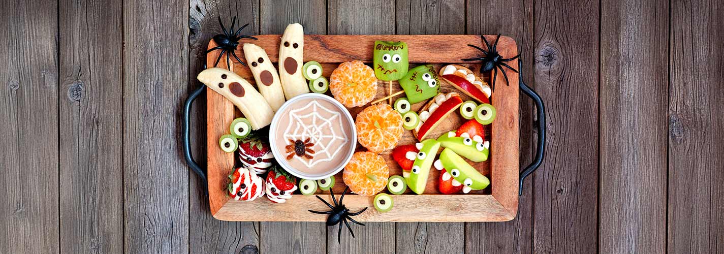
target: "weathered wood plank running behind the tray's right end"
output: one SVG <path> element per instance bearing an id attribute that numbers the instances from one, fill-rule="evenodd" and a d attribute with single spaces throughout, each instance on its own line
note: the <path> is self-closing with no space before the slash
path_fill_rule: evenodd
<path id="1" fill-rule="evenodd" d="M 505 9 L 494 12 L 489 7 Z M 532 1 L 467 1 L 466 33 L 502 34 L 513 37 L 518 43 L 518 52 L 523 60 L 523 78 L 529 86 L 536 89 L 533 82 L 534 44 L 533 44 L 533 2 Z M 511 19 L 509 17 L 518 17 Z M 517 66 L 514 66 L 518 69 Z M 513 85 L 513 84 L 511 84 Z M 527 166 L 533 158 L 534 133 L 532 132 L 532 103 L 521 96 L 520 112 L 520 166 Z M 500 223 L 466 223 L 466 253 L 531 253 L 532 251 L 532 192 L 531 175 L 523 187 L 523 195 L 518 200 L 518 216 L 511 221 Z M 508 241 L 500 241 L 506 239 Z"/>

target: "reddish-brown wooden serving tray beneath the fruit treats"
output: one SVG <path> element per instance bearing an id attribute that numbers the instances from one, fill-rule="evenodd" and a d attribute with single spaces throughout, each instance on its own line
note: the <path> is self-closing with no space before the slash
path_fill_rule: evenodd
<path id="1" fill-rule="evenodd" d="M 279 40 L 281 35 L 259 35 L 258 41 L 243 40 L 237 47 L 236 54 L 244 59 L 241 50 L 243 43 L 255 43 L 266 50 L 269 59 L 276 63 L 279 54 Z M 494 35 L 486 35 L 487 40 L 493 43 Z M 316 61 L 324 67 L 324 77 L 329 77 L 332 70 L 341 62 L 361 60 L 371 64 L 372 47 L 374 41 L 405 41 L 409 46 L 410 69 L 419 65 L 431 63 L 442 67 L 445 64 L 462 64 L 478 72 L 480 64 L 470 64 L 460 61 L 471 57 L 481 56 L 481 52 L 468 47 L 473 44 L 484 48 L 479 35 L 305 35 L 304 36 L 304 62 Z M 216 46 L 214 41 L 209 48 Z M 502 36 L 497 50 L 504 57 L 518 54 L 518 48 L 513 38 Z M 219 51 L 207 55 L 207 66 L 213 67 Z M 232 57 L 233 59 L 233 57 Z M 218 67 L 226 67 L 226 57 L 219 62 Z M 510 66 L 517 67 L 518 60 L 508 62 Z M 232 69 L 254 84 L 254 79 L 248 67 L 234 62 Z M 490 74 L 483 80 L 490 82 Z M 487 161 L 473 164 L 482 174 L 485 174 L 491 184 L 485 190 L 472 191 L 468 194 L 442 195 L 437 192 L 436 182 L 439 172 L 434 168 L 430 170 L 430 177 L 424 195 L 416 195 L 408 190 L 403 195 L 393 195 L 395 206 L 386 213 L 377 212 L 373 205 L 373 197 L 359 195 L 345 196 L 345 206 L 351 211 L 362 208 L 369 209 L 355 216 L 358 221 L 509 221 L 518 213 L 518 75 L 507 71 L 510 85 L 506 85 L 502 73 L 498 73 L 492 104 L 497 110 L 497 119 L 486 127 L 485 140 L 490 140 L 490 156 Z M 441 81 L 440 91 L 447 93 L 458 91 L 452 85 Z M 387 82 L 379 81 L 377 97 L 387 96 Z M 400 90 L 397 82 L 392 85 L 393 93 Z M 470 99 L 458 91 L 463 101 Z M 328 95 L 331 96 L 331 94 Z M 404 96 L 404 95 L 401 95 Z M 397 96 L 395 98 L 398 98 Z M 327 211 L 329 208 L 321 203 L 314 195 L 293 195 L 286 203 L 271 203 L 267 198 L 258 198 L 253 201 L 232 200 L 227 195 L 228 175 L 235 166 L 236 153 L 224 153 L 219 148 L 219 137 L 229 132 L 229 125 L 235 117 L 241 114 L 235 106 L 223 96 L 207 88 L 207 148 L 209 176 L 209 202 L 214 218 L 224 221 L 325 221 L 327 216 L 310 213 L 307 210 Z M 393 100 L 394 101 L 394 100 Z M 423 106 L 417 103 L 413 110 Z M 369 105 L 368 105 L 369 106 Z M 351 108 L 353 117 L 363 107 Z M 437 138 L 439 135 L 455 130 L 466 121 L 460 114 L 450 114 L 443 124 L 429 137 Z M 411 131 L 405 131 L 399 145 L 413 144 L 417 140 Z M 358 151 L 366 151 L 358 145 Z M 390 175 L 401 175 L 402 169 L 392 160 L 390 151 L 382 153 L 390 168 Z M 336 176 L 334 193 L 340 195 L 345 185 L 342 181 L 342 172 Z M 386 191 L 386 190 L 385 190 Z M 330 200 L 328 192 L 318 191 L 321 198 Z"/>

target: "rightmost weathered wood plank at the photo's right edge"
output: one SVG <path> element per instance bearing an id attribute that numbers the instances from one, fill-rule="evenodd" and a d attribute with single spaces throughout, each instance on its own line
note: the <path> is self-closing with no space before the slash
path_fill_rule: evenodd
<path id="1" fill-rule="evenodd" d="M 724 3 L 670 9 L 668 252 L 724 253 Z"/>

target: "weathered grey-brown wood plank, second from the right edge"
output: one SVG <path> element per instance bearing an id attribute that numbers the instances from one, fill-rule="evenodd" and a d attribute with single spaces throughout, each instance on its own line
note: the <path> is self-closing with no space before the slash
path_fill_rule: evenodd
<path id="1" fill-rule="evenodd" d="M 601 8 L 599 251 L 665 253 L 668 4 Z"/>

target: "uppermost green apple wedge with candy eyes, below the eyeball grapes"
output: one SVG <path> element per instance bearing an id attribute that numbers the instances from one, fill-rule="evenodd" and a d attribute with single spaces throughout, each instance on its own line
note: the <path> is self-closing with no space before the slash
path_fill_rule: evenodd
<path id="1" fill-rule="evenodd" d="M 463 133 L 460 137 L 455 136 L 455 132 L 447 132 L 447 135 L 441 135 L 437 141 L 444 148 L 458 153 L 458 155 L 474 162 L 487 161 L 490 143 L 476 135 L 470 137 L 468 133 Z"/>

